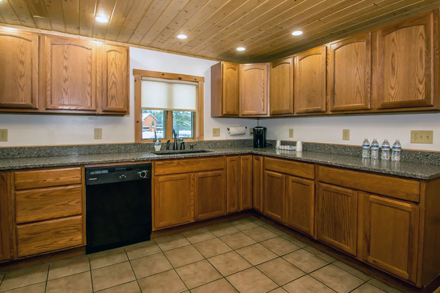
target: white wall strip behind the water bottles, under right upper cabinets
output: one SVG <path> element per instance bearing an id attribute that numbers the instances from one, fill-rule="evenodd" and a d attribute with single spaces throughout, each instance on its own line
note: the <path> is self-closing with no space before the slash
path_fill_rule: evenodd
<path id="1" fill-rule="evenodd" d="M 267 127 L 268 139 L 358 146 L 366 137 L 379 144 L 388 139 L 391 145 L 399 139 L 405 149 L 440 150 L 440 113 L 260 119 L 260 126 Z M 349 141 L 342 140 L 342 129 L 350 129 Z M 433 144 L 411 144 L 411 130 L 433 130 Z"/>

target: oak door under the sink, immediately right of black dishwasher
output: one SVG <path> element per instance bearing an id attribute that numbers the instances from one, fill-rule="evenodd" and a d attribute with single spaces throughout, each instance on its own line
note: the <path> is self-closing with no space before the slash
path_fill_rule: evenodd
<path id="1" fill-rule="evenodd" d="M 154 228 L 193 221 L 191 174 L 157 176 L 154 179 Z"/>

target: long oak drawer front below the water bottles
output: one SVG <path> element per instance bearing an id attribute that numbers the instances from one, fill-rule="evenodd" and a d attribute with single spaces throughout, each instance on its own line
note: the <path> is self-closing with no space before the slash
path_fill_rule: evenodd
<path id="1" fill-rule="evenodd" d="M 319 166 L 319 181 L 415 202 L 420 197 L 418 180 L 394 176 Z"/>

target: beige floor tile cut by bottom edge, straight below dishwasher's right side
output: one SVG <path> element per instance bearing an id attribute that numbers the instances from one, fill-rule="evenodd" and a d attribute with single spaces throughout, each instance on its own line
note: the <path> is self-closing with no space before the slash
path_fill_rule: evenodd
<path id="1" fill-rule="evenodd" d="M 179 293 L 189 292 L 175 270 L 161 272 L 138 280 L 143 292 Z"/>

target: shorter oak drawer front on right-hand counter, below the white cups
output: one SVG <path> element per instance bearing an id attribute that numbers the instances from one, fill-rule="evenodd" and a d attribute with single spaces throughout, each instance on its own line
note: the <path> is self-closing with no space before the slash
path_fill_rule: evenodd
<path id="1" fill-rule="evenodd" d="M 315 178 L 314 164 L 274 159 L 274 158 L 264 158 L 264 168 L 266 170 L 272 170 L 272 171 L 298 176 L 298 177 L 304 177 L 308 179 Z"/>

